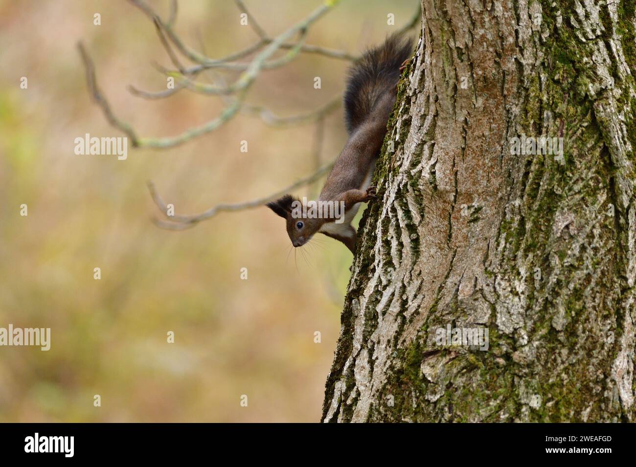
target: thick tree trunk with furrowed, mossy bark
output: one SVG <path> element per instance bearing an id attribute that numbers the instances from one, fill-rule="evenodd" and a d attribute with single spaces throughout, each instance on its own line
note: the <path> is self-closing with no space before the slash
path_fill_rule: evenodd
<path id="1" fill-rule="evenodd" d="M 422 0 L 323 421 L 636 421 L 634 4 Z"/>

